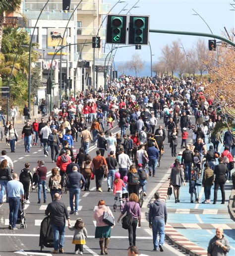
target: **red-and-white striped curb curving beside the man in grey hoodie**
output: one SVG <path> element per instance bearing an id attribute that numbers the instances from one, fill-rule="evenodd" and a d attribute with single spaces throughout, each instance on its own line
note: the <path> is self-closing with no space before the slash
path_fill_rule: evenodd
<path id="1" fill-rule="evenodd" d="M 168 198 L 167 190 L 169 188 L 169 185 L 170 185 L 170 181 L 167 180 L 158 190 L 158 192 L 160 192 L 160 195 L 161 195 L 160 199 L 165 202 L 167 202 L 167 198 Z M 235 190 L 234 190 L 233 198 L 234 197 L 235 197 Z M 153 198 L 151 199 L 150 202 L 152 201 L 154 201 Z M 166 224 L 165 226 L 165 235 L 167 240 L 170 241 L 172 245 L 174 245 L 176 248 L 178 248 L 179 250 L 181 250 L 182 252 L 185 252 L 190 256 L 207 255 L 207 251 L 205 249 L 189 241 L 186 237 L 178 233 L 178 231 L 169 224 Z"/>

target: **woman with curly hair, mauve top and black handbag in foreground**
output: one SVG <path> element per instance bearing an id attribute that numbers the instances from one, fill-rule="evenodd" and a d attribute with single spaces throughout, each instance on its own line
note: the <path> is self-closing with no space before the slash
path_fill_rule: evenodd
<path id="1" fill-rule="evenodd" d="M 137 224 L 139 223 L 138 226 L 141 227 L 141 210 L 138 201 L 138 195 L 135 193 L 131 193 L 129 196 L 129 201 L 126 202 L 123 210 L 121 211 L 121 214 L 117 219 L 117 222 L 119 222 L 120 218 L 126 213 L 125 217 L 122 218 L 123 226 L 123 221 L 128 219 L 131 215 L 131 221 L 128 225 L 128 238 L 130 246 L 135 246 Z"/>

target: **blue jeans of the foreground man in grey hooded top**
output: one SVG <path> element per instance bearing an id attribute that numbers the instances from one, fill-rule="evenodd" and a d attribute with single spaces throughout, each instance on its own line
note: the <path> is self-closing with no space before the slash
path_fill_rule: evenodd
<path id="1" fill-rule="evenodd" d="M 165 239 L 165 220 L 164 219 L 154 219 L 152 221 L 153 229 L 153 246 L 158 249 L 159 245 L 162 246 Z M 157 241 L 157 235 L 159 232 L 160 240 Z"/>

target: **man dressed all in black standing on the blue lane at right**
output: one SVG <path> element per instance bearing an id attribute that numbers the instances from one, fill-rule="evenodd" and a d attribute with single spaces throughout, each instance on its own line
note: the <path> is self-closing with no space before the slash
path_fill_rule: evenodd
<path id="1" fill-rule="evenodd" d="M 222 202 L 221 204 L 225 204 L 225 183 L 227 180 L 227 173 L 229 172 L 227 166 L 223 164 L 223 158 L 218 158 L 219 164 L 215 166 L 214 174 L 215 174 L 215 187 L 214 187 L 214 202 L 217 202 L 217 193 L 218 188 L 220 187 L 222 194 Z"/>

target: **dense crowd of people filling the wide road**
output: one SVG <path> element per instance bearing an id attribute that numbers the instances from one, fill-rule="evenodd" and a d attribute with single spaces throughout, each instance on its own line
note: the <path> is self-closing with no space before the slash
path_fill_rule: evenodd
<path id="1" fill-rule="evenodd" d="M 31 124 L 29 118 L 25 118 L 25 126 L 21 134 L 25 152 L 29 153 L 32 146 L 41 146 L 44 157 L 48 157 L 51 151 L 52 162 L 56 163 L 48 184 L 52 200 L 55 198 L 59 200 L 63 188 L 67 187 L 70 214 L 78 215 L 80 191 L 83 188 L 84 191 L 89 191 L 91 180 L 95 179 L 97 192 L 103 192 L 102 181 L 107 177 L 107 191 L 114 194 L 114 210 L 117 208 L 117 201 L 120 204 L 121 215 L 117 222 L 125 212 L 132 213 L 133 220 L 128 229 L 130 246 L 135 246 L 136 227 L 141 225 L 139 190 L 142 189 L 143 195 L 147 195 L 148 180 L 158 175 L 157 169 L 167 146 L 171 147 L 171 156 L 175 160 L 171 166 L 170 183 L 174 188 L 176 203 L 180 201 L 180 186 L 186 183 L 189 186 L 190 202 L 199 203 L 196 186 L 202 176 L 202 186 L 205 191 L 203 203 L 210 203 L 213 184 L 215 186 L 213 203 L 217 203 L 219 187 L 222 192 L 222 203 L 225 203 L 225 183 L 231 179 L 231 171 L 234 168 L 235 138 L 231 130 L 217 131 L 218 126 L 225 119 L 221 107 L 217 106 L 213 99 L 206 98 L 203 84 L 192 78 L 175 79 L 170 76 L 135 78 L 123 75 L 109 85 L 107 92 L 102 88 L 87 89 L 76 98 L 71 95 L 68 100 L 62 100 L 59 107 L 54 106 L 46 122 L 45 113 L 42 114 L 40 123 L 35 119 Z M 120 128 L 120 133 L 116 132 L 115 135 L 113 129 L 117 127 Z M 14 124 L 6 123 L 5 135 L 11 152 L 15 152 L 18 134 Z M 32 140 L 33 145 L 31 145 Z M 78 141 L 81 142 L 81 147 L 79 152 L 76 152 L 74 145 Z M 208 149 L 207 143 L 213 145 Z M 93 159 L 89 155 L 91 144 L 98 148 Z M 224 150 L 220 153 L 219 149 L 223 145 Z M 0 167 L 2 188 L 10 176 L 9 169 L 5 180 L 1 178 L 4 177 L 1 175 L 4 168 L 8 167 L 2 161 Z M 20 178 L 24 188 L 25 203 L 30 203 L 30 185 L 33 188 L 38 186 L 38 203 L 42 201 L 42 190 L 44 203 L 47 202 L 47 172 L 43 160 L 38 161 L 34 174 L 30 172 L 29 164 L 25 164 Z M 1 190 L 3 196 L 2 193 L 4 189 Z M 159 222 L 153 217 L 149 220 L 149 224 L 153 230 L 154 250 L 163 251 L 163 226 L 166 223 L 167 211 L 164 205 L 158 203 L 158 194 L 155 195 L 155 199 L 157 202 L 150 209 L 153 211 L 151 216 L 155 216 L 156 207 L 163 207 L 163 210 Z M 51 214 L 53 207 L 46 213 Z M 111 236 L 109 226 L 106 227 L 102 223 L 101 215 L 104 208 L 105 202 L 100 200 L 94 215 L 98 222 L 96 238 L 100 238 L 101 254 L 107 254 Z M 112 215 L 112 212 L 110 214 Z M 68 218 L 66 212 L 65 216 Z M 10 226 L 14 228 L 14 224 L 10 223 Z M 80 236 L 81 232 L 84 235 L 82 239 L 74 239 L 74 241 L 85 240 L 87 232 L 82 227 L 84 224 L 79 219 L 73 228 L 70 227 L 71 230 L 76 229 L 76 235 L 79 233 Z M 54 237 L 58 237 L 56 234 L 59 229 L 55 228 L 53 232 Z M 157 232 L 160 233 L 159 243 Z M 61 251 L 62 248 L 63 245 L 59 247 L 59 244 L 55 243 L 54 253 Z M 83 252 L 81 245 L 76 246 L 75 252 L 78 253 L 78 250 Z"/>

